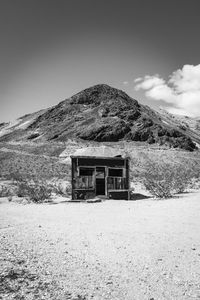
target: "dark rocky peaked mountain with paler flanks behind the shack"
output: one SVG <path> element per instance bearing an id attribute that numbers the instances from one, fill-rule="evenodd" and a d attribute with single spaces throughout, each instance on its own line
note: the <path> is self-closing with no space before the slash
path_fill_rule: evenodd
<path id="1" fill-rule="evenodd" d="M 154 111 L 121 90 L 99 84 L 14 124 L 0 124 L 0 142 L 126 140 L 193 151 L 200 144 L 200 121 L 195 122 L 192 127 L 188 119 Z"/>

